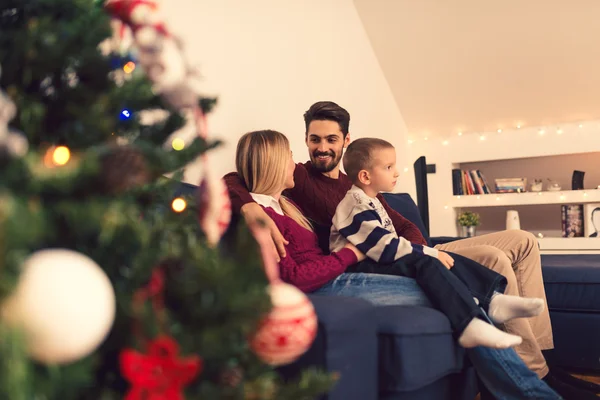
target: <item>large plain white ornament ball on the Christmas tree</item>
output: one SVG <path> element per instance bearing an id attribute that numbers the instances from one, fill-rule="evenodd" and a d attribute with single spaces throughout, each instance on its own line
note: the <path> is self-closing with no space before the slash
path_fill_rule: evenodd
<path id="1" fill-rule="evenodd" d="M 25 261 L 0 311 L 10 326 L 23 329 L 32 358 L 64 364 L 85 357 L 104 340 L 115 318 L 115 293 L 89 257 L 41 250 Z"/>

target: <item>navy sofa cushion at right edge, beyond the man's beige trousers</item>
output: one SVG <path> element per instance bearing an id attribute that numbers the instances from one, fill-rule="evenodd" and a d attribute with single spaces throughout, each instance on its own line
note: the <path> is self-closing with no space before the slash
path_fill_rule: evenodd
<path id="1" fill-rule="evenodd" d="M 542 273 L 550 310 L 600 312 L 600 255 L 543 255 Z"/>

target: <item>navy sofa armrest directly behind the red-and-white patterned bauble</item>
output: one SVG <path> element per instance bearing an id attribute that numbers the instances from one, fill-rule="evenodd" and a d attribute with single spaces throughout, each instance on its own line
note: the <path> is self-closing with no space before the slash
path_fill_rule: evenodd
<path id="1" fill-rule="evenodd" d="M 304 355 L 279 369 L 282 376 L 293 378 L 305 368 L 322 368 L 340 375 L 325 399 L 377 399 L 377 323 L 374 306 L 351 297 L 308 297 L 318 317 L 317 337 Z"/>

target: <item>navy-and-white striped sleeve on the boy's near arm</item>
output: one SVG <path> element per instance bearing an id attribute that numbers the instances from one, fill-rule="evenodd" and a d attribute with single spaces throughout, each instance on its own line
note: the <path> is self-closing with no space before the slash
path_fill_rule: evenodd
<path id="1" fill-rule="evenodd" d="M 367 204 L 357 204 L 345 221 L 334 218 L 334 224 L 340 235 L 377 262 L 391 263 L 413 252 L 438 257 L 437 250 L 411 243 L 385 229 L 377 212 Z"/>

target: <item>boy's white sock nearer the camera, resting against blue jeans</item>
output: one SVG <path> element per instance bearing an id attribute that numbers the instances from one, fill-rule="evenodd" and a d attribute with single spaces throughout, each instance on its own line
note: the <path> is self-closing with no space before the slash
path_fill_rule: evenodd
<path id="1" fill-rule="evenodd" d="M 522 341 L 520 336 L 502 332 L 479 318 L 473 318 L 458 338 L 458 343 L 466 349 L 477 346 L 507 349 L 521 344 Z"/>

